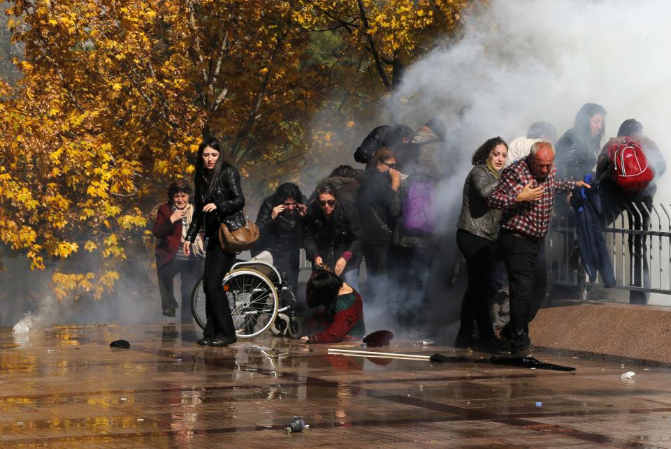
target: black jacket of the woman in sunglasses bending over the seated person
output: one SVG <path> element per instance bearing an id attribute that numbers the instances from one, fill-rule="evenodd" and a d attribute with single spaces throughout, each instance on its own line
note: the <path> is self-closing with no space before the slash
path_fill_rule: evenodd
<path id="1" fill-rule="evenodd" d="M 331 269 L 342 254 L 349 251 L 352 258 L 345 271 L 354 270 L 361 262 L 361 222 L 354 206 L 338 202 L 331 221 L 326 221 L 317 203 L 308 206 L 305 216 L 305 252 L 314 261 L 320 256 Z"/>

